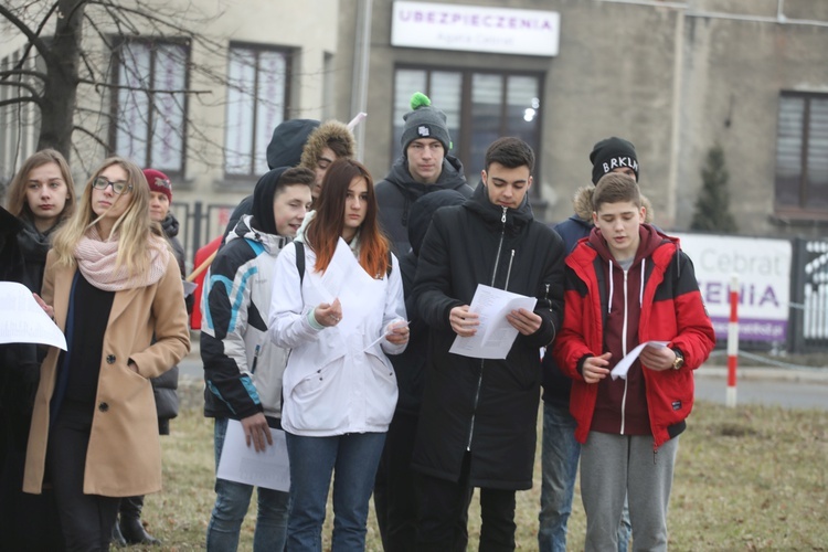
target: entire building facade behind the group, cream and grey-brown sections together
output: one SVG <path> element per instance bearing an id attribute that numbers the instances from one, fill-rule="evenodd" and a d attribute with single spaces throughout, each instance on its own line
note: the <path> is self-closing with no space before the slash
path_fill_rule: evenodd
<path id="1" fill-rule="evenodd" d="M 187 25 L 185 4 L 163 9 Z M 641 189 L 666 230 L 689 229 L 715 145 L 740 234 L 828 229 L 828 2 L 251 0 L 203 15 L 202 40 L 145 29 L 98 44 L 117 92 L 82 87 L 77 120 L 95 137 L 76 134 L 72 160 L 78 185 L 108 152 L 164 170 L 180 217 L 212 220 L 202 242 L 227 209 L 193 205 L 248 194 L 278 123 L 367 113 L 360 156 L 380 179 L 401 155 L 414 92 L 447 114 L 452 153 L 473 185 L 495 138 L 532 144 L 531 200 L 546 222 L 567 217 L 590 183 L 593 145 L 620 136 L 636 146 Z M 0 44 L 4 67 L 22 47 Z M 26 125 L 36 114 L 23 125 L 21 113 L 0 108 L 4 180 L 34 147 Z"/>

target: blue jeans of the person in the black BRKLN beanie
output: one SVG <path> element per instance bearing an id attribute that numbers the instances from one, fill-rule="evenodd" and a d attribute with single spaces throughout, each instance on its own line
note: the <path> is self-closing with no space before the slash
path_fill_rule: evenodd
<path id="1" fill-rule="evenodd" d="M 572 496 L 581 456 L 581 444 L 575 440 L 576 425 L 567 404 L 544 401 L 541 513 L 538 517 L 540 552 L 566 552 L 566 523 L 572 513 Z M 629 508 L 627 500 L 624 500 L 624 512 L 618 523 L 618 552 L 629 549 L 631 533 Z"/>

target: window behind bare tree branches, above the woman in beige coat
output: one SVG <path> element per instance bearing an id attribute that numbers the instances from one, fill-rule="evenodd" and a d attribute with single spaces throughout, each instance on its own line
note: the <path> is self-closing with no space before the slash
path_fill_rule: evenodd
<path id="1" fill-rule="evenodd" d="M 167 173 L 184 172 L 190 46 L 129 40 L 116 50 L 114 151 Z"/>

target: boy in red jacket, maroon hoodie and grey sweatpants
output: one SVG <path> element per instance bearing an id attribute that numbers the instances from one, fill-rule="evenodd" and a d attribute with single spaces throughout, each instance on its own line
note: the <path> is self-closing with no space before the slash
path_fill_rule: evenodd
<path id="1" fill-rule="evenodd" d="M 633 541 L 667 550 L 667 507 L 693 374 L 715 344 L 690 258 L 644 223 L 631 178 L 608 173 L 593 194 L 595 227 L 566 258 L 564 322 L 555 360 L 574 380 L 585 549 L 617 550 L 629 497 Z M 646 346 L 626 379 L 611 370 Z M 666 344 L 665 344 L 666 343 Z"/>

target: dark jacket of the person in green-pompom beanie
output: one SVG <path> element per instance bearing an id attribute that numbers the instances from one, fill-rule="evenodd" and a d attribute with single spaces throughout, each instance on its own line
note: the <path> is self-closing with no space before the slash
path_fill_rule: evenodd
<path id="1" fill-rule="evenodd" d="M 437 190 L 457 190 L 466 198 L 471 197 L 473 191 L 466 183 L 463 163 L 452 156 L 443 159 L 443 170 L 433 184 L 421 184 L 415 181 L 408 172 L 408 161 L 403 156 L 396 160 L 388 177 L 376 182 L 374 190 L 380 206 L 380 225 L 391 240 L 391 246 L 397 257 L 402 257 L 411 248 L 408 214 L 415 201 Z"/>

